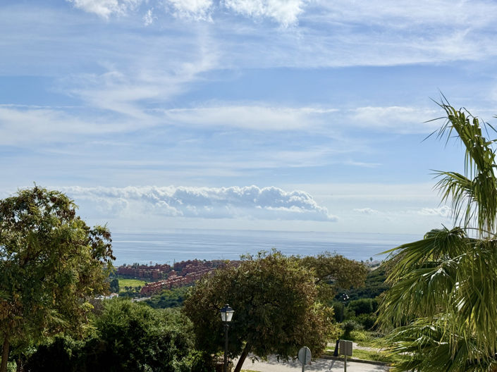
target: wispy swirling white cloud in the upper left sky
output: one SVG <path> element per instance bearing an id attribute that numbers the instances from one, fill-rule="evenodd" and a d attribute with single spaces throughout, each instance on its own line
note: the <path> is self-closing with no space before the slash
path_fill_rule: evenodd
<path id="1" fill-rule="evenodd" d="M 146 109 L 150 101 L 164 102 L 178 96 L 200 73 L 216 64 L 216 47 L 207 32 L 194 40 L 178 37 L 168 43 L 170 48 L 178 49 L 174 56 L 163 50 L 149 55 L 147 49 L 156 48 L 157 40 L 145 38 L 140 42 L 139 50 L 128 54 L 130 61 L 105 63 L 104 73 L 73 75 L 62 90 L 93 108 L 150 121 L 154 119 Z"/>

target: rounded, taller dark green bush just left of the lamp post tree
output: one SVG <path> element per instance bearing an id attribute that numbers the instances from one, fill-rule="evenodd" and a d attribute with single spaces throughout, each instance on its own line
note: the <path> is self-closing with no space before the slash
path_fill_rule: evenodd
<path id="1" fill-rule="evenodd" d="M 192 349 L 187 321 L 178 312 L 154 310 L 125 299 L 106 302 L 95 321 L 99 342 L 93 348 L 94 368 L 111 372 L 187 371 Z"/>

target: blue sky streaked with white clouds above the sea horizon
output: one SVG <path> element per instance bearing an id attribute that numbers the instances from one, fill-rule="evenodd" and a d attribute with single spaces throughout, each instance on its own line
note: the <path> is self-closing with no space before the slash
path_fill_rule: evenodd
<path id="1" fill-rule="evenodd" d="M 441 94 L 493 123 L 494 1 L 2 0 L 0 197 L 115 232 L 451 225 Z M 495 137 L 495 136 L 494 136 Z"/>

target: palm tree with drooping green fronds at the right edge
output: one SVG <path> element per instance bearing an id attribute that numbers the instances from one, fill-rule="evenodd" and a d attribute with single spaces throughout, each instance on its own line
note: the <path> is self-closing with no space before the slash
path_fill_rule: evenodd
<path id="1" fill-rule="evenodd" d="M 390 251 L 391 268 L 379 323 L 393 354 L 407 354 L 397 371 L 497 371 L 496 140 L 490 125 L 443 97 L 438 138 L 465 147 L 464 175 L 436 171 L 436 188 L 450 204 L 455 227 Z"/>

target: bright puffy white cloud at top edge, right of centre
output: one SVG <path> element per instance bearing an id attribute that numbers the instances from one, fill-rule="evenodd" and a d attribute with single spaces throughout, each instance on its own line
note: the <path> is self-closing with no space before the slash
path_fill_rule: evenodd
<path id="1" fill-rule="evenodd" d="M 281 25 L 295 25 L 307 4 L 304 0 L 224 0 L 236 13 L 254 18 L 272 18 Z"/>

